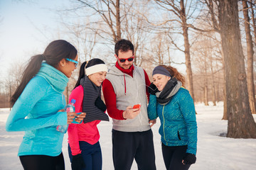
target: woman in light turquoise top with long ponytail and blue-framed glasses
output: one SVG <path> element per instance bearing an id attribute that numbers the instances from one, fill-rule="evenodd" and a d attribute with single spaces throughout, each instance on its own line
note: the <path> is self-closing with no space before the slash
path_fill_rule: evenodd
<path id="1" fill-rule="evenodd" d="M 65 169 L 61 151 L 64 134 L 56 127 L 70 124 L 77 115 L 63 110 L 63 91 L 78 64 L 77 53 L 65 40 L 50 42 L 42 55 L 31 57 L 11 96 L 13 108 L 6 131 L 25 131 L 18 149 L 24 169 Z M 76 120 L 83 118 L 85 113 Z"/>

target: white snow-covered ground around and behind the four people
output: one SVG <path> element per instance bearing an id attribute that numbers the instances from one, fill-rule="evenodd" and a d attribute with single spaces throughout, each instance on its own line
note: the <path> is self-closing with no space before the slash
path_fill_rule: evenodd
<path id="1" fill-rule="evenodd" d="M 221 120 L 223 116 L 223 103 L 218 106 L 203 106 L 196 104 L 196 115 L 198 123 L 198 152 L 197 162 L 190 169 L 197 170 L 242 170 L 256 169 L 256 140 L 231 139 L 220 137 L 220 133 L 227 132 L 227 121 Z M 5 123 L 9 115 L 9 108 L 0 108 L 0 170 L 22 169 L 17 157 L 18 146 L 21 143 L 23 132 L 6 132 Z M 256 115 L 254 115 L 256 120 Z M 111 122 L 101 122 L 100 145 L 102 147 L 103 170 L 112 170 L 112 141 Z M 156 154 L 157 169 L 165 169 L 161 155 L 160 135 L 158 133 L 159 120 L 152 128 L 154 132 L 154 147 Z M 65 167 L 70 168 L 67 149 L 67 135 L 64 137 L 63 154 Z M 132 169 L 137 169 L 136 163 Z"/>

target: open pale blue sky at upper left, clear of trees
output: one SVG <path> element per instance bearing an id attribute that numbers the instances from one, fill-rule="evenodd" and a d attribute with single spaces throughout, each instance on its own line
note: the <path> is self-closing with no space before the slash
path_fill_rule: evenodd
<path id="1" fill-rule="evenodd" d="M 26 62 L 32 55 L 43 53 L 51 41 L 49 30 L 54 32 L 60 26 L 56 13 L 50 8 L 58 8 L 62 4 L 61 0 L 0 1 L 1 69 L 8 69 L 11 63 Z"/>

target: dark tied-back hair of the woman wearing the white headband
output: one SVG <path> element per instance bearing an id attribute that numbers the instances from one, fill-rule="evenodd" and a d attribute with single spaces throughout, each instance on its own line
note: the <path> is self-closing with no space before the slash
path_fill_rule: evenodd
<path id="1" fill-rule="evenodd" d="M 96 65 L 96 64 L 105 64 L 105 62 L 103 62 L 102 60 L 100 60 L 98 58 L 95 58 L 95 59 L 90 60 L 89 62 L 83 62 L 81 64 L 80 71 L 79 71 L 78 81 L 76 82 L 74 89 L 77 86 L 80 86 L 80 80 L 83 77 L 85 77 L 85 69 L 88 68 L 88 67 L 91 67 L 93 65 Z"/>

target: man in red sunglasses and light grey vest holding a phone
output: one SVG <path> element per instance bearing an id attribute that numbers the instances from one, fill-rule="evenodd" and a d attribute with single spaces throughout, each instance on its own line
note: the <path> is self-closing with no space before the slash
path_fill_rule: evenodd
<path id="1" fill-rule="evenodd" d="M 115 170 L 155 170 L 153 134 L 147 115 L 149 77 L 133 64 L 134 45 L 119 40 L 114 46 L 117 62 L 110 68 L 102 90 L 107 113 L 113 120 L 112 157 Z M 140 104 L 140 108 L 133 108 Z M 154 124 L 154 123 L 153 123 Z"/>

